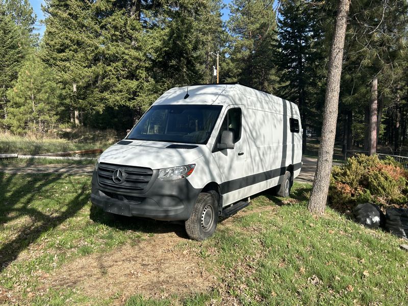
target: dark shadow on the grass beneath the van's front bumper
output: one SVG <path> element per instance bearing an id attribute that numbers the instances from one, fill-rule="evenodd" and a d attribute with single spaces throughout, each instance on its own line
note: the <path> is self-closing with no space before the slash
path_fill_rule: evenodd
<path id="1" fill-rule="evenodd" d="M 99 207 L 92 205 L 89 218 L 100 224 L 116 228 L 120 231 L 133 231 L 145 234 L 174 233 L 181 238 L 188 238 L 184 229 L 184 221 L 169 222 L 147 218 L 126 217 L 104 212 Z"/>

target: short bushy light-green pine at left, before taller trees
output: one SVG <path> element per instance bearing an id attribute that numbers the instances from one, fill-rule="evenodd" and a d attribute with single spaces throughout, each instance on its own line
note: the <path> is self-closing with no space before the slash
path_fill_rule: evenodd
<path id="1" fill-rule="evenodd" d="M 54 73 L 36 54 L 28 56 L 17 83 L 7 92 L 10 103 L 5 124 L 13 133 L 44 134 L 58 119 L 60 92 Z"/>

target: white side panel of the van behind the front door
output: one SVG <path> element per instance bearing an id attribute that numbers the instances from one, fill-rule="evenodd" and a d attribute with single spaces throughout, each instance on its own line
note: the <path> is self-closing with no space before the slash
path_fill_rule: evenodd
<path id="1" fill-rule="evenodd" d="M 301 123 L 297 106 L 287 100 L 260 93 L 243 95 L 246 104 L 246 124 L 243 126 L 248 142 L 246 157 L 247 185 L 241 198 L 259 193 L 283 181 L 286 169 L 292 165 L 293 177 L 301 167 Z M 290 118 L 298 119 L 299 132 L 290 131 Z M 236 193 L 236 192 L 235 192 Z M 230 200 L 231 199 L 231 200 Z M 223 205 L 233 203 L 225 194 Z"/>

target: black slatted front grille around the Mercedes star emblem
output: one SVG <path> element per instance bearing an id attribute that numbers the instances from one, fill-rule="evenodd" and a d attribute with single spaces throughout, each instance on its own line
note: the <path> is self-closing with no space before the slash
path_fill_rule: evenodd
<path id="1" fill-rule="evenodd" d="M 113 172 L 120 169 L 123 172 L 122 182 L 113 181 Z M 98 182 L 100 185 L 134 191 L 144 190 L 151 180 L 153 170 L 142 167 L 129 167 L 100 163 L 98 166 Z"/>

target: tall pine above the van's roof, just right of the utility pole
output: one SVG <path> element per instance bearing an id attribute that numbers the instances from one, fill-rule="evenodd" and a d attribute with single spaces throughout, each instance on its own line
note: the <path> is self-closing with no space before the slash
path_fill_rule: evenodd
<path id="1" fill-rule="evenodd" d="M 234 0 L 230 4 L 227 25 L 232 35 L 232 69 L 227 81 L 268 92 L 276 90 L 279 82 L 273 64 L 276 21 L 272 5 L 265 0 Z"/>

